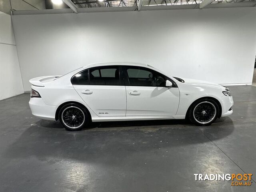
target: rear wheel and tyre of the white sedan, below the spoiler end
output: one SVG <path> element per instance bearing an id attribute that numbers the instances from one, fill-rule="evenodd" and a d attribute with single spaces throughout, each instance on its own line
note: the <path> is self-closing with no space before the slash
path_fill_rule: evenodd
<path id="1" fill-rule="evenodd" d="M 69 103 L 60 109 L 59 120 L 68 131 L 78 131 L 89 123 L 90 116 L 79 104 Z"/>

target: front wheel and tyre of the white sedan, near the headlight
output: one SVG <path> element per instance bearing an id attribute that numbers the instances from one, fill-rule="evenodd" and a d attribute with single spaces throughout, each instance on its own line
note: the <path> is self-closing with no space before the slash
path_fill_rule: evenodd
<path id="1" fill-rule="evenodd" d="M 212 99 L 200 99 L 192 104 L 188 112 L 190 122 L 199 126 L 208 126 L 218 117 L 220 109 Z"/>

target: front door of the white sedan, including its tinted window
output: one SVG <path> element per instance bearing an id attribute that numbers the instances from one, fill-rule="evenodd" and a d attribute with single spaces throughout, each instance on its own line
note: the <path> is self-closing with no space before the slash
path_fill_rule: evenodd
<path id="1" fill-rule="evenodd" d="M 126 116 L 174 116 L 178 110 L 178 87 L 166 87 L 169 78 L 150 68 L 125 66 Z"/>

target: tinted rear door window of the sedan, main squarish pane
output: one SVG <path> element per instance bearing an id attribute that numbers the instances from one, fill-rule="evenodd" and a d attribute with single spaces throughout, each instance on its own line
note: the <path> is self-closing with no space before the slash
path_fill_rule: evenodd
<path id="1" fill-rule="evenodd" d="M 119 67 L 91 68 L 90 85 L 120 85 Z"/>

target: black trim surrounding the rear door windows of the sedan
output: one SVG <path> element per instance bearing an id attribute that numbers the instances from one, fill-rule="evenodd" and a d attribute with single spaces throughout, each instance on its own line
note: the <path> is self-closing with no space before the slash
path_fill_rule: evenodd
<path id="1" fill-rule="evenodd" d="M 95 84 L 91 84 L 90 82 L 90 70 L 94 69 L 94 68 L 111 68 L 111 67 L 114 67 L 114 68 L 118 68 L 118 72 L 119 72 L 119 84 L 118 85 L 95 85 Z M 85 70 L 88 70 L 88 84 L 73 84 L 72 83 L 72 79 L 74 76 L 76 76 L 77 74 L 79 73 L 82 73 L 83 71 Z M 70 82 L 72 85 L 92 85 L 92 86 L 125 86 L 124 84 L 124 74 L 121 72 L 122 71 L 122 66 L 120 65 L 105 65 L 105 66 L 96 66 L 96 67 L 91 67 L 91 68 L 86 68 L 80 72 L 77 72 L 76 74 L 74 74 L 71 79 L 70 79 Z M 100 73 L 100 71 L 99 71 Z M 101 76 L 101 75 L 100 75 Z"/>

